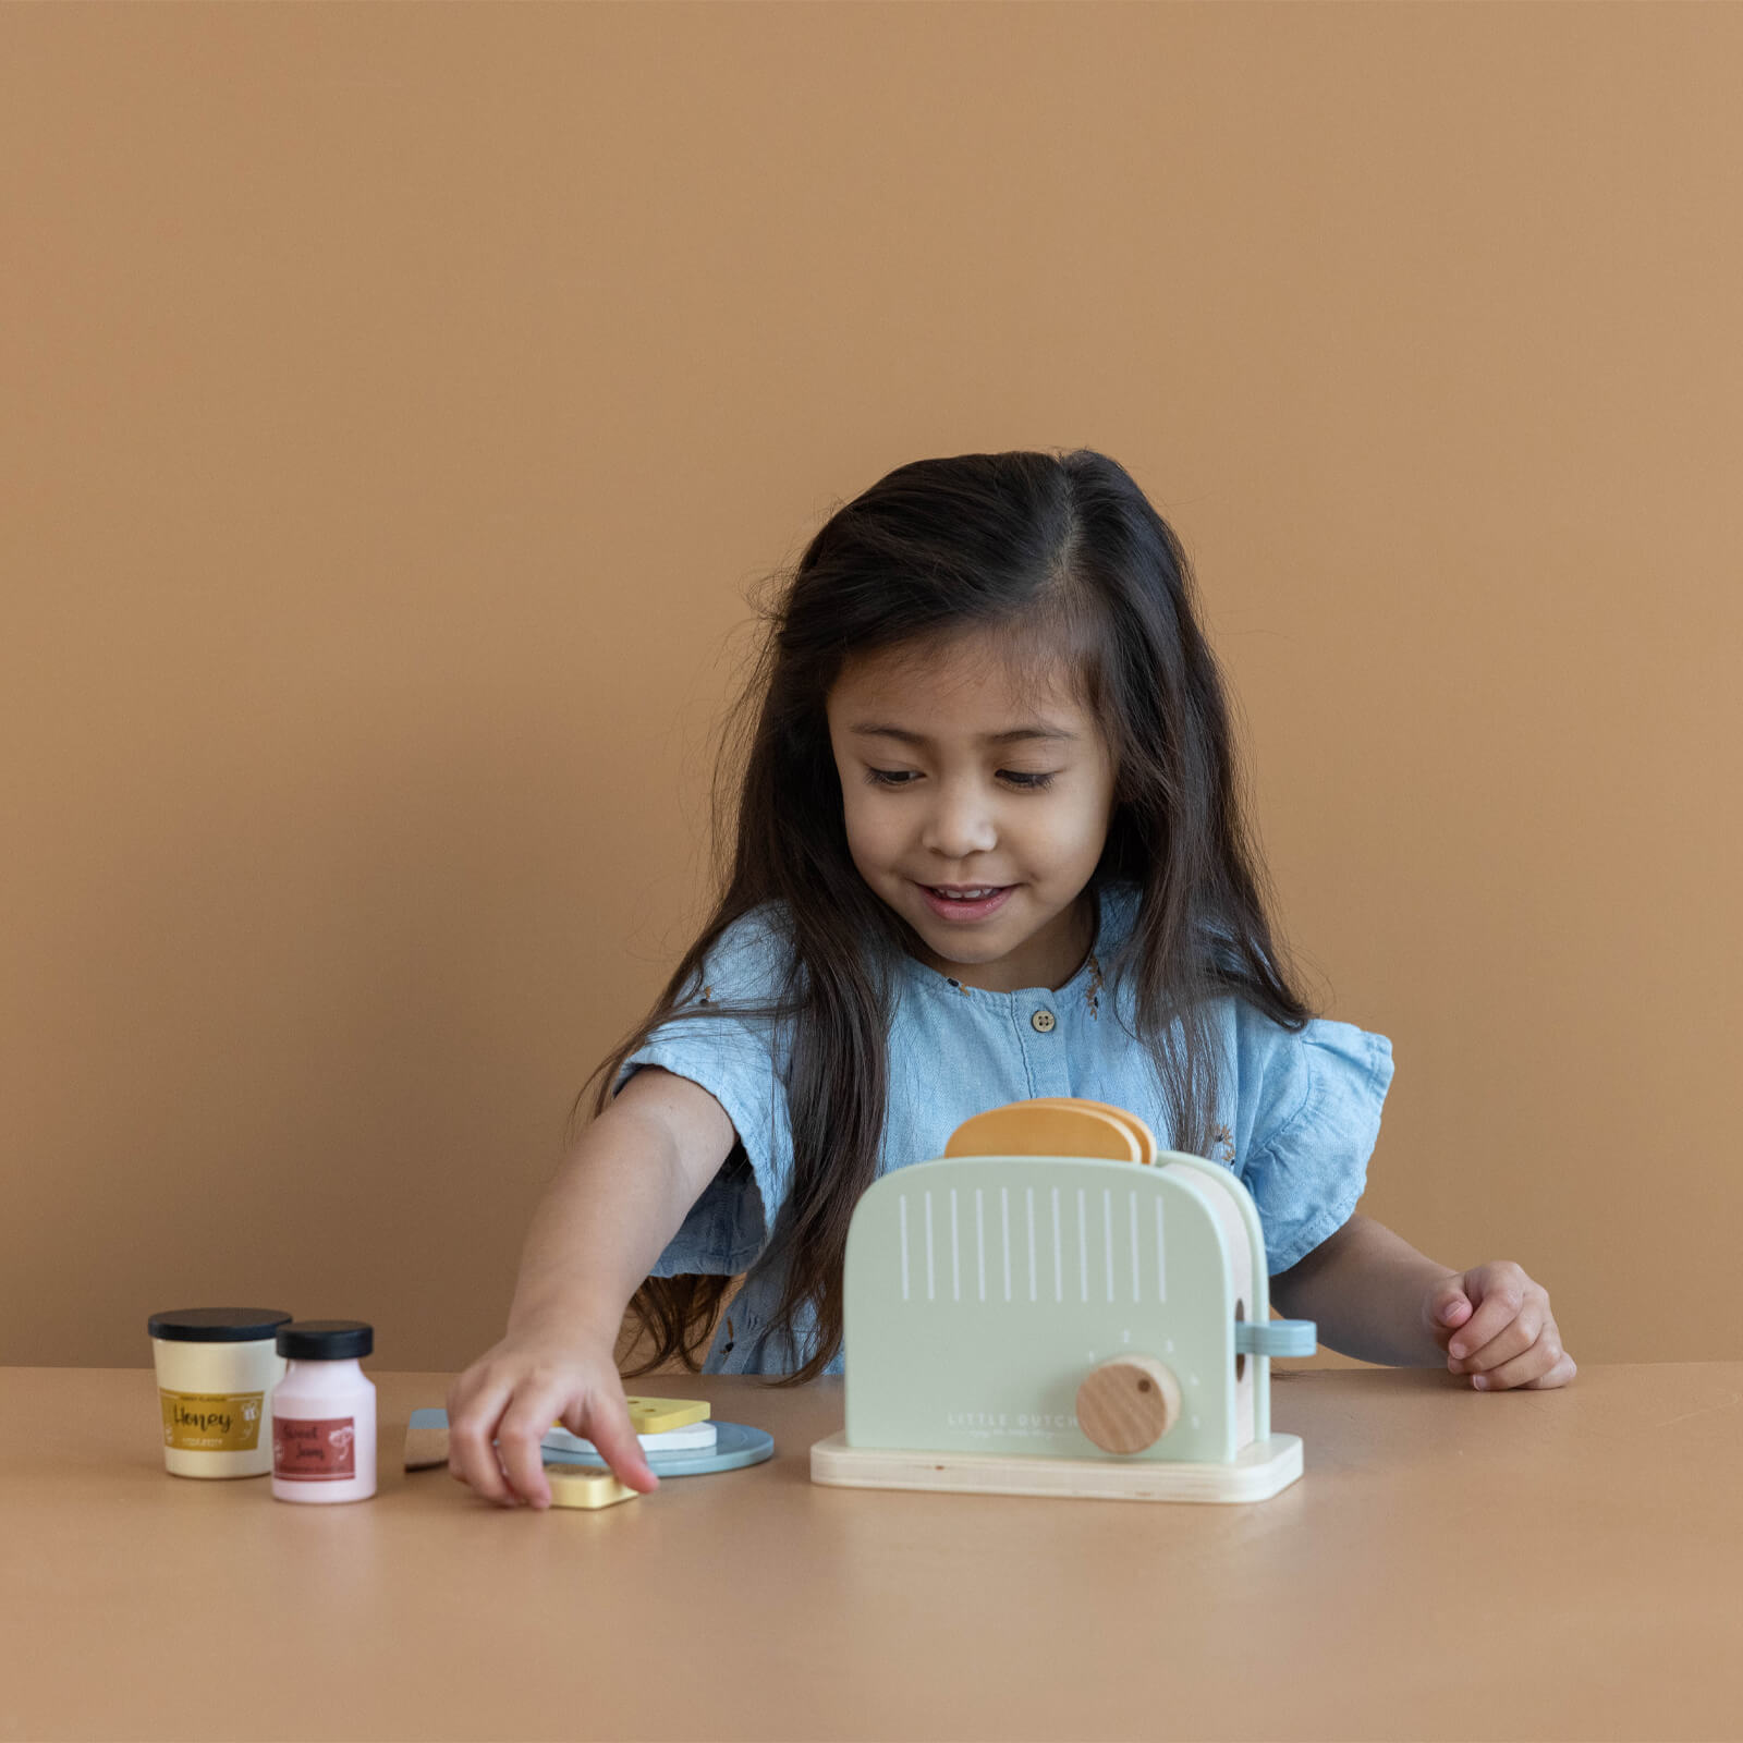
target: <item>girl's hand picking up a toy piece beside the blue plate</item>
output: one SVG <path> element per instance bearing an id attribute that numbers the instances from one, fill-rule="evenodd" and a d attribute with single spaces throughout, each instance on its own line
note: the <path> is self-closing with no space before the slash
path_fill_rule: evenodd
<path id="1" fill-rule="evenodd" d="M 544 1509 L 540 1441 L 554 1422 L 591 1440 L 619 1482 L 659 1489 L 610 1347 L 546 1332 L 511 1332 L 448 1387 L 448 1475 L 498 1506 Z"/>

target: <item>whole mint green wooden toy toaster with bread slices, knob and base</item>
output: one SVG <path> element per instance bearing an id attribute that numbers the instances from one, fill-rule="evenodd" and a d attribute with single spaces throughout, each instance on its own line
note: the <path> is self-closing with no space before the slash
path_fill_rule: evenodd
<path id="1" fill-rule="evenodd" d="M 1103 1102 L 1009 1102 L 877 1180 L 847 1231 L 847 1426 L 810 1480 L 1126 1501 L 1264 1501 L 1302 1471 L 1271 1431 L 1251 1194 Z"/>

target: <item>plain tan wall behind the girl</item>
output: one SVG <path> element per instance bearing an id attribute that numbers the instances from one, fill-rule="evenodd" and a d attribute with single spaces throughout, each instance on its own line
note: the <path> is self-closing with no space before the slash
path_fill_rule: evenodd
<path id="1" fill-rule="evenodd" d="M 1738 1356 L 1738 7 L 0 10 L 0 1361 L 500 1335 L 746 589 L 1089 444 L 1197 565 L 1363 1210 Z"/>

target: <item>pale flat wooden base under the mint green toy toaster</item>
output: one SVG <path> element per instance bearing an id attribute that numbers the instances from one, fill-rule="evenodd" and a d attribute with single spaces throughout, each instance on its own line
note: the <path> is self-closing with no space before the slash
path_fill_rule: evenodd
<path id="1" fill-rule="evenodd" d="M 837 1489 L 938 1489 L 1081 1501 L 1267 1501 L 1302 1475 L 1300 1434 L 1243 1447 L 1231 1464 L 1049 1459 L 997 1452 L 849 1447 L 845 1431 L 810 1448 L 810 1480 Z"/>

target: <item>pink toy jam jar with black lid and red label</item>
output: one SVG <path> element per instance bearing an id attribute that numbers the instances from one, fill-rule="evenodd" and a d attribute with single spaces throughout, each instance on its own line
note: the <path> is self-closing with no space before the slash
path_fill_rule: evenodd
<path id="1" fill-rule="evenodd" d="M 284 1379 L 272 1389 L 272 1497 L 368 1501 L 375 1494 L 375 1349 L 361 1319 L 293 1319 L 277 1332 Z"/>

